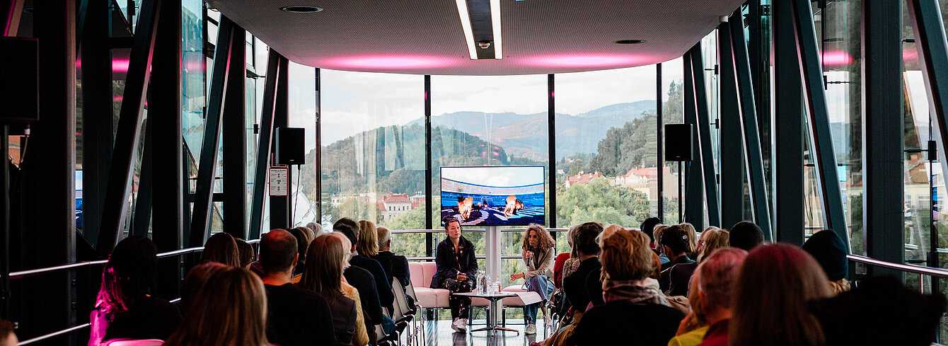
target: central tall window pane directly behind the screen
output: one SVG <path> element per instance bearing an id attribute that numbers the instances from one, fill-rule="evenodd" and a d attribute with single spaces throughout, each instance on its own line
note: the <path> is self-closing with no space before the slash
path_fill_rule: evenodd
<path id="1" fill-rule="evenodd" d="M 549 162 L 546 75 L 432 76 L 431 115 L 434 228 L 441 228 L 441 167 L 547 166 Z M 501 253 L 520 254 L 513 234 L 521 233 L 504 233 Z M 437 244 L 444 233 L 435 233 L 434 238 Z M 483 232 L 465 232 L 465 238 L 474 243 L 477 253 L 485 252 Z M 518 261 L 501 265 L 502 273 L 523 269 Z M 504 285 L 510 284 L 509 279 L 501 275 Z"/>

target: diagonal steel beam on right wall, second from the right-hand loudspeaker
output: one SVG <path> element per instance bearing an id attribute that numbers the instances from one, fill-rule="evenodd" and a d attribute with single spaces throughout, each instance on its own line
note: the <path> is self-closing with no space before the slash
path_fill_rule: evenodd
<path id="1" fill-rule="evenodd" d="M 767 178 L 764 176 L 764 159 L 760 147 L 760 133 L 757 132 L 757 102 L 754 97 L 754 83 L 751 80 L 751 62 L 747 55 L 747 41 L 744 41 L 740 9 L 731 15 L 728 25 L 731 27 L 731 58 L 733 59 L 734 78 L 738 84 L 740 118 L 743 124 L 741 137 L 744 138 L 744 164 L 747 172 L 747 185 L 751 192 L 751 213 L 754 222 L 764 232 L 764 239 L 774 239 L 770 217 L 770 202 L 767 198 Z M 725 63 L 727 64 L 727 63 Z M 731 76 L 727 76 L 731 78 Z"/>

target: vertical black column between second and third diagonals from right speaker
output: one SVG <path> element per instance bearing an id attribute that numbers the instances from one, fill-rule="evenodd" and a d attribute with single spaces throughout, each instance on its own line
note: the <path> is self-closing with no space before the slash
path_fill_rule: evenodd
<path id="1" fill-rule="evenodd" d="M 776 241 L 803 245 L 803 89 L 789 2 L 774 3 L 774 226 Z M 778 202 L 777 202 L 778 201 Z"/>

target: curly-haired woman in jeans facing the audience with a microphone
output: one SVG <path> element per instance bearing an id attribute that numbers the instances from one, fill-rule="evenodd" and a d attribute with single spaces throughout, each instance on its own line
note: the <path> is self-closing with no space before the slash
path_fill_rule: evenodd
<path id="1" fill-rule="evenodd" d="M 550 232 L 538 224 L 530 224 L 527 230 L 523 232 L 523 239 L 520 242 L 520 258 L 526 266 L 526 270 L 520 273 L 510 274 L 510 281 L 524 279 L 527 290 L 536 292 L 540 301 L 529 304 L 524 307 L 527 326 L 523 334 L 537 334 L 537 308 L 543 307 L 543 316 L 546 313 L 547 297 L 553 293 L 553 260 L 556 256 L 556 242 L 550 236 Z"/>

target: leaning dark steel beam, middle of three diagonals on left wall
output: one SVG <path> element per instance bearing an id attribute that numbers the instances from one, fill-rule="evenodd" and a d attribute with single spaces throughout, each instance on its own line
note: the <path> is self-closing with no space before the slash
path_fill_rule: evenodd
<path id="1" fill-rule="evenodd" d="M 214 168 L 217 165 L 217 144 L 221 138 L 221 118 L 227 97 L 230 71 L 230 49 L 233 47 L 233 22 L 221 16 L 217 31 L 217 46 L 214 48 L 214 65 L 210 74 L 210 98 L 208 113 L 204 118 L 204 140 L 201 142 L 201 161 L 197 166 L 197 181 L 194 189 L 194 207 L 191 213 L 191 246 L 204 245 L 210 229 L 210 210 L 213 204 Z M 241 37 L 241 43 L 244 37 Z M 236 48 L 236 47 L 235 47 Z M 244 49 L 244 45 L 240 45 Z M 243 77 L 243 70 L 237 74 Z"/>

